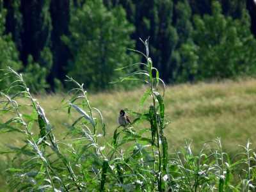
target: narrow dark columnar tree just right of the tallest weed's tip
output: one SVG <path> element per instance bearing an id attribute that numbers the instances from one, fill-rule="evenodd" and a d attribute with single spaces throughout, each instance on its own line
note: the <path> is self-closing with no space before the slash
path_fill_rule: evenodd
<path id="1" fill-rule="evenodd" d="M 154 17 L 150 21 L 150 44 L 152 60 L 155 61 L 162 79 L 170 83 L 179 63 L 177 45 L 179 35 L 173 22 L 173 1 L 155 1 Z"/>

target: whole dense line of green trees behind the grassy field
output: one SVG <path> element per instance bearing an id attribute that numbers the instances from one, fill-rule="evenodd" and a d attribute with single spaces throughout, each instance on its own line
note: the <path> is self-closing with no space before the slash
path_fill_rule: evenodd
<path id="1" fill-rule="evenodd" d="M 153 65 L 166 83 L 256 72 L 253 0 L 0 3 L 0 68 L 18 70 L 31 92 L 69 88 L 66 74 L 91 90 L 113 88 L 109 82 L 127 73 L 115 68 L 145 62 L 127 48 L 143 52 L 139 38 L 148 36 Z"/>

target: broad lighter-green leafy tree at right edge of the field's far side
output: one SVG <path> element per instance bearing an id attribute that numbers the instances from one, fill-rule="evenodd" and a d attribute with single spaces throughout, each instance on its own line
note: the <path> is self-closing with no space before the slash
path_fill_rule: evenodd
<path id="1" fill-rule="evenodd" d="M 193 16 L 194 44 L 182 45 L 184 78 L 223 79 L 256 72 L 256 40 L 241 20 L 225 17 L 218 2 L 212 15 Z M 248 13 L 244 13 L 248 15 Z M 247 22 L 248 25 L 248 22 Z"/>

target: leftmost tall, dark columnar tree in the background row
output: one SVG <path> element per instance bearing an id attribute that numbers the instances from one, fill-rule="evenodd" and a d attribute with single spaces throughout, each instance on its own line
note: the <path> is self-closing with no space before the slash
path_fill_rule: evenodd
<path id="1" fill-rule="evenodd" d="M 22 14 L 20 60 L 22 60 L 25 67 L 28 67 L 25 73 L 31 71 L 31 63 L 38 63 L 41 70 L 47 72 L 46 76 L 34 76 L 38 77 L 36 81 L 27 80 L 29 83 L 40 82 L 41 85 L 44 82 L 45 84 L 42 86 L 28 84 L 29 87 L 40 88 L 40 90 L 31 89 L 31 92 L 42 92 L 44 88 L 49 87 L 46 82 L 52 68 L 52 52 L 50 49 L 52 22 L 49 12 L 51 0 L 22 0 L 20 2 L 19 10 Z M 29 58 L 29 55 L 33 59 Z M 32 68 L 37 67 L 33 66 Z M 33 74 L 33 71 L 31 73 Z"/>

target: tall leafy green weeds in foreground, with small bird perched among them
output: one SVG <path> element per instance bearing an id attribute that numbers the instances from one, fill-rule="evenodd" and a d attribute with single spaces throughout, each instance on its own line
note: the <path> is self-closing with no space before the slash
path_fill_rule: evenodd
<path id="1" fill-rule="evenodd" d="M 67 93 L 59 109 L 67 109 L 69 118 L 71 113 L 79 117 L 72 125 L 65 124 L 67 131 L 63 131 L 63 140 L 58 141 L 52 131 L 54 125 L 32 97 L 22 75 L 12 68 L 6 69 L 6 77 L 1 81 L 10 77 L 15 77 L 15 81 L 0 92 L 3 97 L 0 110 L 1 114 L 12 113 L 14 117 L 0 123 L 1 133 L 19 132 L 24 138 L 23 147 L 6 145 L 11 151 L 1 152 L 15 154 L 13 161 L 23 157 L 22 168 L 8 169 L 13 172 L 10 191 L 255 191 L 256 154 L 250 148 L 250 141 L 241 146 L 244 152 L 232 158 L 223 152 L 220 138 L 205 141 L 197 155 L 192 153 L 191 143 L 186 139 L 185 147 L 168 150 L 164 129 L 170 122 L 164 113 L 165 88 L 163 94 L 158 92 L 160 83 L 165 86 L 149 58 L 148 40 L 143 44 L 146 54 L 136 52 L 147 63 L 116 70 L 133 65 L 143 65 L 144 70 L 112 83 L 143 81 L 149 88 L 139 106 L 148 98 L 152 104 L 143 113 L 125 109 L 136 119 L 131 125 L 117 127 L 109 139 L 106 139 L 109 133 L 104 118 L 98 109 L 90 106 L 83 84 L 67 77 L 76 88 Z M 16 93 L 10 96 L 10 90 Z M 19 104 L 20 99 L 28 100 L 29 104 Z M 25 114 L 20 113 L 20 108 L 30 110 Z M 150 127 L 136 131 L 134 127 L 145 121 Z M 99 140 L 104 141 L 102 145 Z M 209 142 L 216 147 L 208 147 Z M 131 147 L 124 150 L 127 143 Z"/>

